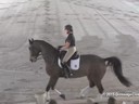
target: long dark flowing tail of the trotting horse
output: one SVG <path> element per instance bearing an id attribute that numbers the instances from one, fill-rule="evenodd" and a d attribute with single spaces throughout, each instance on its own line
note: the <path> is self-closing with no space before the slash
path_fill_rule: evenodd
<path id="1" fill-rule="evenodd" d="M 118 80 L 126 87 L 130 87 L 131 82 L 124 77 L 123 72 L 122 72 L 122 62 L 119 58 L 112 56 L 112 57 L 106 57 L 104 58 L 105 62 L 108 62 L 108 65 L 111 65 L 113 67 L 113 70 L 118 78 Z"/>

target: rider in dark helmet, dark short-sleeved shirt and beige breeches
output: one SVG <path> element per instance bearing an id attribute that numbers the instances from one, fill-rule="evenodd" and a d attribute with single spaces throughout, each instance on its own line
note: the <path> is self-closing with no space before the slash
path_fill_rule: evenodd
<path id="1" fill-rule="evenodd" d="M 73 56 L 73 54 L 76 52 L 76 47 L 75 47 L 75 37 L 73 35 L 73 27 L 72 25 L 65 25 L 65 31 L 67 35 L 67 38 L 65 39 L 64 46 L 61 48 L 62 50 L 66 51 L 66 54 L 64 55 L 62 60 L 62 66 L 65 72 L 65 77 L 68 78 L 71 77 L 71 69 L 67 65 L 67 61 Z"/>

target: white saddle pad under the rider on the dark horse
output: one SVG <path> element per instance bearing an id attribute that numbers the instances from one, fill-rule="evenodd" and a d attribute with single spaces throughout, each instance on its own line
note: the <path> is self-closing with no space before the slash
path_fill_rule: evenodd
<path id="1" fill-rule="evenodd" d="M 73 69 L 73 70 L 79 69 L 79 62 L 80 62 L 80 57 L 78 57 L 76 60 L 71 60 L 71 65 L 70 65 L 71 69 Z M 62 68 L 60 58 L 58 60 L 58 64 Z"/>

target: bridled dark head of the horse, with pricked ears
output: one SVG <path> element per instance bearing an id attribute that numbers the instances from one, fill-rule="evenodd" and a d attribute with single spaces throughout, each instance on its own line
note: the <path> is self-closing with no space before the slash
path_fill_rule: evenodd
<path id="1" fill-rule="evenodd" d="M 40 53 L 40 48 L 39 44 L 36 42 L 34 39 L 29 39 L 29 53 L 30 53 L 30 62 L 36 62 L 37 57 L 39 56 Z"/>

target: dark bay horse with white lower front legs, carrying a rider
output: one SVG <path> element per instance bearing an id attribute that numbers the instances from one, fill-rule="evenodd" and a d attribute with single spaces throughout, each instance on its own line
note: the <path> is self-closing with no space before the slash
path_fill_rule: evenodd
<path id="1" fill-rule="evenodd" d="M 49 99 L 49 90 L 55 90 L 61 98 L 64 98 L 60 91 L 54 89 L 58 79 L 63 77 L 63 69 L 61 69 L 58 65 L 59 51 L 56 48 L 52 47 L 48 42 L 43 40 L 29 40 L 29 52 L 30 52 L 30 61 L 36 62 L 39 54 L 41 53 L 45 63 L 47 74 L 50 76 L 48 86 L 46 88 L 47 99 Z M 108 64 L 105 64 L 105 62 Z M 122 72 L 122 63 L 119 58 L 112 56 L 102 58 L 92 54 L 80 55 L 80 67 L 78 70 L 73 70 L 72 78 L 79 78 L 87 76 L 89 81 L 89 88 L 93 88 L 97 86 L 99 93 L 103 93 L 103 87 L 101 80 L 105 74 L 106 67 L 112 66 L 113 70 L 117 77 L 117 79 L 126 87 L 130 87 L 131 83 L 123 76 Z"/>

